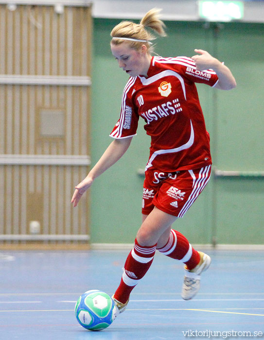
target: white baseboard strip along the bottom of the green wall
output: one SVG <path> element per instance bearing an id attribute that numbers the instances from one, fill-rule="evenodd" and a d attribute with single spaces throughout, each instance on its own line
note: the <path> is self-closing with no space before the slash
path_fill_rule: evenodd
<path id="1" fill-rule="evenodd" d="M 91 249 L 99 250 L 131 250 L 132 243 L 91 243 Z M 263 250 L 264 244 L 192 244 L 194 249 L 204 250 Z"/>

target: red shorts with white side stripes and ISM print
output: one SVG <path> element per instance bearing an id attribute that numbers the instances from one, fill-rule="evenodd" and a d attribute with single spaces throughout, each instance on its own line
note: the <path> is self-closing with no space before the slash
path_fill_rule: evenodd
<path id="1" fill-rule="evenodd" d="M 210 175 L 211 165 L 172 173 L 146 170 L 142 214 L 148 215 L 156 206 L 170 215 L 183 217 L 207 185 Z"/>

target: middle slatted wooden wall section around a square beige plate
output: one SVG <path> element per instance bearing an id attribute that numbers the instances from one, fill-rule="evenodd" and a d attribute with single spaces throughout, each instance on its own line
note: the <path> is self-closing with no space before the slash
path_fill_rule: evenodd
<path id="1" fill-rule="evenodd" d="M 88 154 L 89 92 L 82 86 L 0 85 L 0 153 Z M 40 136 L 42 109 L 64 112 L 65 136 Z"/>

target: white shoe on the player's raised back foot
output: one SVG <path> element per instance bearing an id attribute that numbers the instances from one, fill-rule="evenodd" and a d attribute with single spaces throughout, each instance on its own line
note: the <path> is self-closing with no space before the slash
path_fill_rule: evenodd
<path id="1" fill-rule="evenodd" d="M 183 278 L 181 291 L 183 300 L 191 300 L 198 293 L 200 289 L 200 274 L 205 272 L 211 264 L 211 257 L 209 255 L 202 252 L 198 253 L 200 254 L 201 259 L 197 266 L 192 270 L 188 270 L 186 266 L 184 267 L 186 272 Z"/>

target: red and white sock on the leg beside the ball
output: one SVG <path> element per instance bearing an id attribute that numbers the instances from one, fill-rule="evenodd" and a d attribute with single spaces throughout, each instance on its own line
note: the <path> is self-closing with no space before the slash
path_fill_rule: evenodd
<path id="1" fill-rule="evenodd" d="M 132 289 L 139 283 L 152 264 L 156 244 L 150 247 L 141 246 L 137 239 L 124 264 L 123 276 L 114 297 L 123 304 L 129 299 Z"/>

